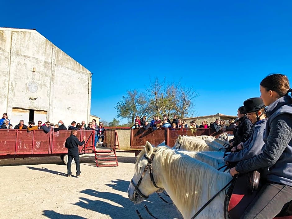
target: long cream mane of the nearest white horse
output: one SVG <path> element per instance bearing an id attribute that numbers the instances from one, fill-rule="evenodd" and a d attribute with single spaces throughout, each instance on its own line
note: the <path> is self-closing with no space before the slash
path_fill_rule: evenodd
<path id="1" fill-rule="evenodd" d="M 207 196 L 209 200 L 231 180 L 229 173 L 219 172 L 206 163 L 168 147 L 153 149 L 156 153 L 153 170 L 161 166 L 159 172 L 166 182 L 164 189 L 168 194 L 173 194 L 171 199 L 178 209 L 184 208 L 191 212 L 195 208 L 197 211 L 202 199 Z M 144 153 L 140 153 L 137 159 L 142 156 Z"/>

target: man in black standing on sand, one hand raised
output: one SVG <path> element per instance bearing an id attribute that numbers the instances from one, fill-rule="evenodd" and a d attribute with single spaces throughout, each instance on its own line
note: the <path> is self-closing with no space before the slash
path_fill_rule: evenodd
<path id="1" fill-rule="evenodd" d="M 70 177 L 71 172 L 71 162 L 72 159 L 75 161 L 76 165 L 76 177 L 81 177 L 80 172 L 80 163 L 79 163 L 79 147 L 78 145 L 83 145 L 85 143 L 85 136 L 83 141 L 80 142 L 77 137 L 77 130 L 72 130 L 71 135 L 66 139 L 65 148 L 68 148 L 68 163 L 67 163 L 67 176 Z"/>

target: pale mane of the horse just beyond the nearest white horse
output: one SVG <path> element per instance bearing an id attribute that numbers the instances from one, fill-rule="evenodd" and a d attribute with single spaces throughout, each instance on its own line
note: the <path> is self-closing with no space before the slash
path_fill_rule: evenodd
<path id="1" fill-rule="evenodd" d="M 179 144 L 178 141 L 179 139 L 176 139 L 175 145 Z M 206 144 L 206 142 L 202 139 L 183 137 L 181 139 L 181 145 L 187 151 L 218 151 L 218 148 Z"/>

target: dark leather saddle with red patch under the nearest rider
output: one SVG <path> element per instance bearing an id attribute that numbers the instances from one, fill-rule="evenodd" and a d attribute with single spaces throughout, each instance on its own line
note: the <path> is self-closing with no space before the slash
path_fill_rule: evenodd
<path id="1" fill-rule="evenodd" d="M 239 219 L 261 188 L 260 173 L 239 174 L 229 187 L 224 200 L 224 218 Z M 286 203 L 274 219 L 292 219 L 292 201 Z"/>

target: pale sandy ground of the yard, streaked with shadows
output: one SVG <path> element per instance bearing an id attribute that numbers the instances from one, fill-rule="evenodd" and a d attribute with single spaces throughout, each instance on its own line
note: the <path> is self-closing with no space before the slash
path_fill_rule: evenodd
<path id="1" fill-rule="evenodd" d="M 125 219 L 137 218 L 127 196 L 134 174 L 134 153 L 117 153 L 118 167 L 96 167 L 94 154 L 80 156 L 80 178 L 66 177 L 59 157 L 0 160 L 0 218 L 2 219 Z M 169 197 L 163 197 L 171 201 Z M 182 218 L 172 204 L 156 194 L 144 201 L 159 219 Z M 138 209 L 144 219 L 152 218 Z"/>

